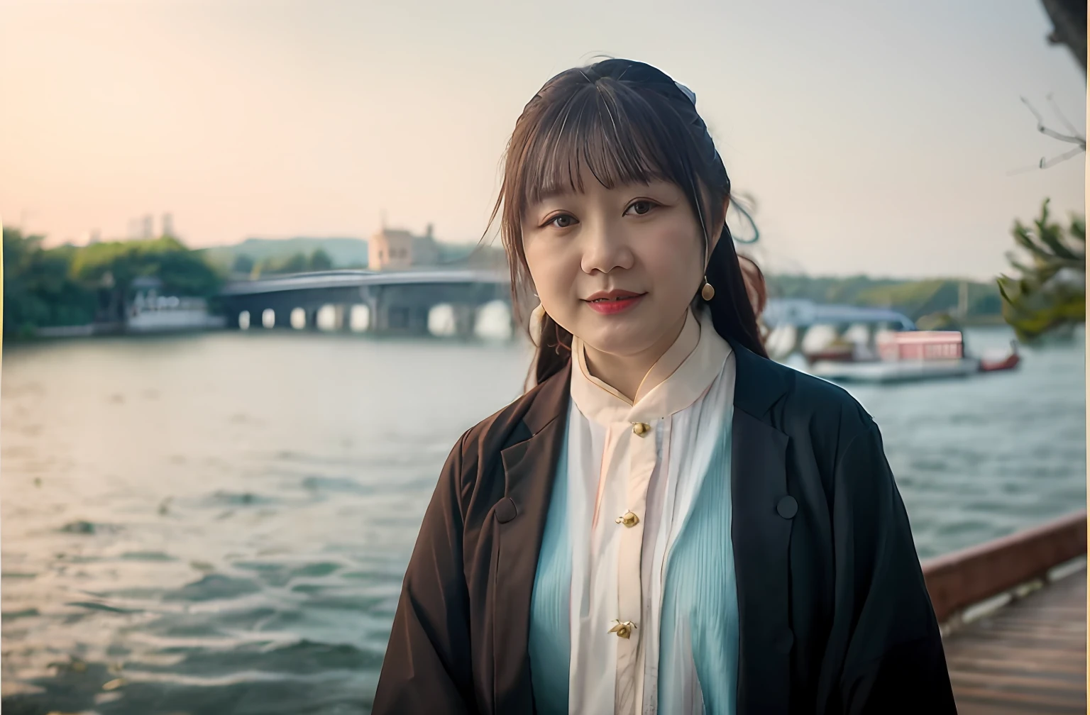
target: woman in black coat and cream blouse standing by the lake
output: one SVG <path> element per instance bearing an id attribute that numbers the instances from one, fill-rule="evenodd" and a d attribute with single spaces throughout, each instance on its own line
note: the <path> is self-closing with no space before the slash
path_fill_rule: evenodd
<path id="1" fill-rule="evenodd" d="M 526 105 L 496 215 L 536 385 L 447 460 L 377 715 L 954 712 L 879 429 L 766 358 L 729 201 L 654 68 Z"/>

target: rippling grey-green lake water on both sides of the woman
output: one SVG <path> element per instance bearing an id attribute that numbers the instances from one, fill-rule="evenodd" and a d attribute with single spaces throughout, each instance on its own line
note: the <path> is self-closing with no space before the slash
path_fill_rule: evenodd
<path id="1" fill-rule="evenodd" d="M 289 331 L 5 347 L 4 712 L 367 712 L 439 468 L 526 358 Z M 1085 506 L 1083 383 L 1080 336 L 1015 373 L 852 388 L 921 557 Z"/>

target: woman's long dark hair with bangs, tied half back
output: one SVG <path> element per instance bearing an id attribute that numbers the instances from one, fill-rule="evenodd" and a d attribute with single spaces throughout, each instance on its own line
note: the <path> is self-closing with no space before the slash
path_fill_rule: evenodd
<path id="1" fill-rule="evenodd" d="M 631 60 L 603 60 L 561 72 L 534 95 L 514 124 L 491 222 L 500 216 L 517 319 L 526 323 L 532 292 L 522 250 L 522 215 L 544 194 L 583 191 L 583 167 L 607 189 L 661 179 L 685 192 L 704 245 L 712 231 L 719 231 L 705 271 L 715 288 L 707 302 L 715 330 L 767 358 L 723 216 L 724 202 L 730 197 L 723 159 L 686 92 L 659 70 Z M 702 302 L 699 293 L 693 301 Z M 544 381 L 570 359 L 571 334 L 546 315 L 535 381 Z"/>

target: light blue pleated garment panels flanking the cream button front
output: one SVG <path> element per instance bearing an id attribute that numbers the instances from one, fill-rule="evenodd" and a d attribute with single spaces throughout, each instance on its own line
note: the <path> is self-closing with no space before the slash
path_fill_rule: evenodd
<path id="1" fill-rule="evenodd" d="M 667 559 L 658 656 L 661 715 L 734 715 L 736 711 L 738 591 L 730 540 L 729 417 L 724 422 L 726 429 Z M 568 713 L 571 659 L 568 518 L 565 439 L 531 597 L 530 671 L 538 715 Z M 615 638 L 605 633 L 602 637 Z M 693 670 L 697 682 L 686 677 Z"/>

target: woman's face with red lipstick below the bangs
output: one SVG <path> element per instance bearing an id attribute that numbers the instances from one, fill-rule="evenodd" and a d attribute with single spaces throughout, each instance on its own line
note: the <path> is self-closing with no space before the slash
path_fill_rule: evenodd
<path id="1" fill-rule="evenodd" d="M 585 193 L 546 197 L 523 215 L 530 275 L 545 312 L 589 348 L 638 355 L 676 337 L 703 283 L 700 223 L 673 183 L 582 180 Z"/>

